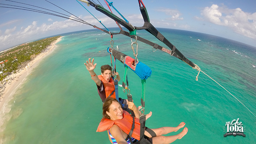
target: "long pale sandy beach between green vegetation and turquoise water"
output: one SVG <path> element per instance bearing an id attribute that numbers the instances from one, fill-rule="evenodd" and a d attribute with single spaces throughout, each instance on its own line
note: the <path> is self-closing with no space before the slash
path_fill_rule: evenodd
<path id="1" fill-rule="evenodd" d="M 43 60 L 45 56 L 49 55 L 56 48 L 55 44 L 58 43 L 62 37 L 52 42 L 52 44 L 49 45 L 44 50 L 44 52 L 41 52 L 33 60 L 30 60 L 27 63 L 26 67 L 22 68 L 22 70 L 18 72 L 16 76 L 11 76 L 12 77 L 11 82 L 5 85 L 5 89 L 2 92 L 3 95 L 0 97 L 0 119 L 1 119 L 0 127 L 3 125 L 5 121 L 5 119 L 3 119 L 5 113 L 8 113 L 10 111 L 10 108 L 6 108 L 5 106 L 12 99 L 12 95 L 16 92 L 16 90 L 20 87 L 20 85 L 25 82 L 26 77 L 30 75 L 30 73 L 33 71 L 33 68 L 35 68 L 40 63 L 40 61 Z"/>

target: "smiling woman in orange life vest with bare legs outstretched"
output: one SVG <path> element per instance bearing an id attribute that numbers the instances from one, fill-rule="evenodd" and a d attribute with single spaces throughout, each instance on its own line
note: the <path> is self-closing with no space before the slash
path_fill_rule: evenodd
<path id="1" fill-rule="evenodd" d="M 108 138 L 113 144 L 169 144 L 177 139 L 181 139 L 188 132 L 188 128 L 185 127 L 177 135 L 162 136 L 170 132 L 177 132 L 185 126 L 184 122 L 181 122 L 177 127 L 160 127 L 156 129 L 145 127 L 145 141 L 140 142 L 139 112 L 133 102 L 129 102 L 128 105 L 134 111 L 135 117 L 124 111 L 116 99 L 107 98 L 104 100 L 102 107 L 103 118 L 97 132 L 108 131 Z"/>

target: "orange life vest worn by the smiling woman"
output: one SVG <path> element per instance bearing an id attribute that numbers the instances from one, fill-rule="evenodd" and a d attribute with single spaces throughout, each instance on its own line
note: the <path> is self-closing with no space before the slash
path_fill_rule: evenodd
<path id="1" fill-rule="evenodd" d="M 130 130 L 132 129 L 132 121 L 133 118 L 131 114 L 129 114 L 127 111 L 123 110 L 123 118 L 117 119 L 117 120 L 110 120 L 105 119 L 100 122 L 97 131 L 96 132 L 104 132 L 109 130 L 114 124 L 116 124 L 118 127 L 120 127 L 126 134 L 129 134 Z M 134 117 L 134 130 L 132 132 L 132 137 L 140 140 L 140 120 L 136 117 Z"/>

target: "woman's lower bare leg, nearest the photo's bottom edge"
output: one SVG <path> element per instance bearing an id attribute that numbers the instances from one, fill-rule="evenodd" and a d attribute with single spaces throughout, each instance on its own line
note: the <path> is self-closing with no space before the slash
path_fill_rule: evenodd
<path id="1" fill-rule="evenodd" d="M 153 144 L 170 144 L 177 139 L 181 139 L 188 132 L 188 128 L 185 127 L 182 132 L 172 136 L 156 136 L 152 138 Z"/>

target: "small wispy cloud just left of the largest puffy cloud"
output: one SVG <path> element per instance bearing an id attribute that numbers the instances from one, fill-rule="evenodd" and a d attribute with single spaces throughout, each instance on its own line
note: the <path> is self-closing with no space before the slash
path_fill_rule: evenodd
<path id="1" fill-rule="evenodd" d="M 168 8 L 159 8 L 156 11 L 164 12 L 171 17 L 166 20 L 183 20 L 183 17 L 180 17 L 182 14 L 178 10 L 168 9 Z"/>

